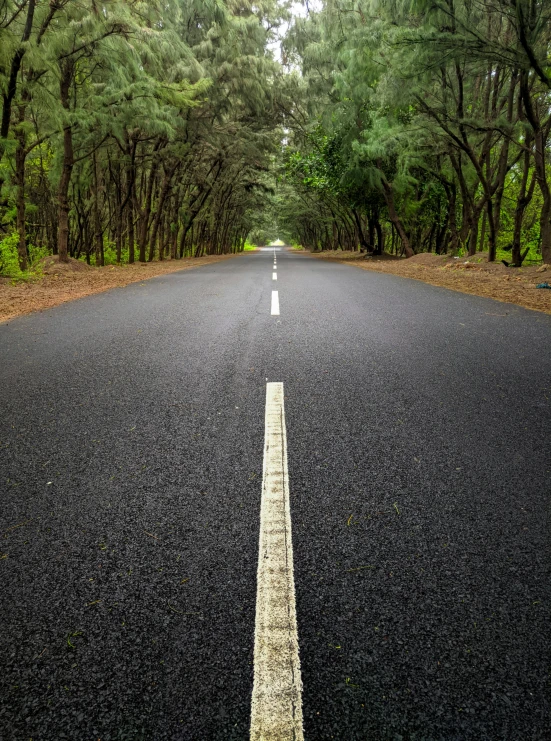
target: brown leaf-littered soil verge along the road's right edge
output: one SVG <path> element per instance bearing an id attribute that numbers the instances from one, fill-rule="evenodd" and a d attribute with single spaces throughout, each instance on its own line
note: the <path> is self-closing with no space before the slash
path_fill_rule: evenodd
<path id="1" fill-rule="evenodd" d="M 425 252 L 409 259 L 387 254 L 365 257 L 358 252 L 327 251 L 312 254 L 322 260 L 334 260 L 363 270 L 414 278 L 433 286 L 450 288 L 452 291 L 486 296 L 551 314 L 551 290 L 536 288 L 538 283 L 551 285 L 551 265 L 506 268 L 501 262 L 488 262 L 488 254 L 485 252 L 477 252 L 470 258 Z"/>

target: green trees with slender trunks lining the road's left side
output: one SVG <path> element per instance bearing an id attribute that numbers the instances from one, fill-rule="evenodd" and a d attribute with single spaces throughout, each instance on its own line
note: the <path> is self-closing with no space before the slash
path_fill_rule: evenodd
<path id="1" fill-rule="evenodd" d="M 0 222 L 91 264 L 241 249 L 273 187 L 287 5 L 4 3 Z"/>

